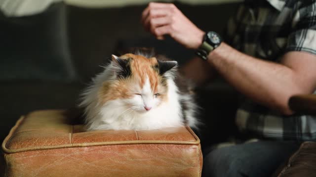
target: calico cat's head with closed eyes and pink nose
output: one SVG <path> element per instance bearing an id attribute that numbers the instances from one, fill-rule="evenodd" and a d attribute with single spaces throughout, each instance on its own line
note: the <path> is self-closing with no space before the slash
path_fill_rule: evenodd
<path id="1" fill-rule="evenodd" d="M 103 83 L 101 102 L 116 100 L 126 110 L 140 113 L 158 107 L 168 99 L 168 71 L 176 61 L 159 61 L 139 55 L 112 56 L 113 80 Z"/>

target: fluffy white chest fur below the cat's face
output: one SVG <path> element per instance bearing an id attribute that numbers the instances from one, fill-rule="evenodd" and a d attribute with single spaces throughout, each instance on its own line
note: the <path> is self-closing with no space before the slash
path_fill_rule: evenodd
<path id="1" fill-rule="evenodd" d="M 100 107 L 98 115 L 93 118 L 94 122 L 87 128 L 150 130 L 183 125 L 177 87 L 171 80 L 168 81 L 168 86 L 168 101 L 158 107 L 139 113 L 122 105 L 121 100 L 112 100 Z"/>

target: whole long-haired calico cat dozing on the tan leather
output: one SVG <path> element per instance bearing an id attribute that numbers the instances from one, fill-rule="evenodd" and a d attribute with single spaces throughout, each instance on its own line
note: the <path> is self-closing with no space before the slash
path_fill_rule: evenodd
<path id="1" fill-rule="evenodd" d="M 177 61 L 138 50 L 112 61 L 82 93 L 87 130 L 197 127 L 194 94 Z"/>

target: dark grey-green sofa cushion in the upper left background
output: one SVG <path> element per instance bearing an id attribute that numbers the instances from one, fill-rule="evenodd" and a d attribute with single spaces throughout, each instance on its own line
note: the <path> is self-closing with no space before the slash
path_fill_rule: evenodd
<path id="1" fill-rule="evenodd" d="M 74 80 L 65 4 L 54 3 L 31 16 L 0 13 L 0 80 Z"/>

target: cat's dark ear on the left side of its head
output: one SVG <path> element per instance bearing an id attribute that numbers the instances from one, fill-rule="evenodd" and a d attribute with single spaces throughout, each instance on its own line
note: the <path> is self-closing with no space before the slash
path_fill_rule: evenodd
<path id="1" fill-rule="evenodd" d="M 129 66 L 130 59 L 120 59 L 115 55 L 112 55 L 112 63 L 115 66 L 114 72 L 120 78 L 127 78 L 131 75 L 131 70 Z"/>

